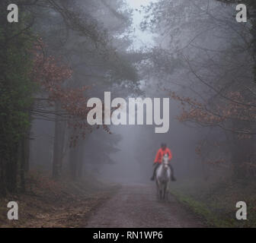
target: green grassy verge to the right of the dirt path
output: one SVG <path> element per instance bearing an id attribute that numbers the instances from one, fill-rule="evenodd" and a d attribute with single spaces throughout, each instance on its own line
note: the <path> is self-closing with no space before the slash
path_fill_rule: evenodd
<path id="1" fill-rule="evenodd" d="M 200 182 L 200 183 L 198 183 Z M 217 228 L 255 228 L 256 194 L 255 186 L 250 183 L 222 182 L 203 185 L 202 181 L 183 181 L 172 186 L 171 194 L 181 204 L 192 210 L 210 227 Z M 247 204 L 247 220 L 235 217 L 236 203 Z"/>

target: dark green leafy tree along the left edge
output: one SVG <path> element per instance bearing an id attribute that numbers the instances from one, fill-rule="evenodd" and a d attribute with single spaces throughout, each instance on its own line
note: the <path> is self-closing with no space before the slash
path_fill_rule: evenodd
<path id="1" fill-rule="evenodd" d="M 9 1 L 2 1 L 4 13 Z M 30 15 L 20 14 L 18 24 L 8 24 L 5 14 L 0 17 L 0 184 L 1 192 L 16 191 L 18 175 L 24 189 L 25 146 L 30 125 L 29 107 L 33 103 L 33 82 L 30 80 L 33 45 L 27 23 Z"/>

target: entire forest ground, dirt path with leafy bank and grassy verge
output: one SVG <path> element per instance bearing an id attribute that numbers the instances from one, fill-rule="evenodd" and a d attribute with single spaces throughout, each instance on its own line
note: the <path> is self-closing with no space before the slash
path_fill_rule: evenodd
<path id="1" fill-rule="evenodd" d="M 211 185 L 211 186 L 210 186 Z M 0 197 L 3 227 L 255 227 L 256 188 L 251 184 L 181 180 L 171 183 L 168 202 L 159 201 L 155 183 L 115 185 L 95 181 L 53 181 L 32 172 L 24 194 Z M 235 219 L 236 202 L 248 205 L 248 220 Z M 7 204 L 16 201 L 19 219 L 7 219 Z"/>

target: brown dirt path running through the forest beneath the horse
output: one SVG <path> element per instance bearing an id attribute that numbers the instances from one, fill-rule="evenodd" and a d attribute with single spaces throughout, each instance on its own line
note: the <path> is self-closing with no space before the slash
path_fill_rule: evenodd
<path id="1" fill-rule="evenodd" d="M 156 199 L 153 185 L 123 185 L 110 200 L 94 211 L 86 227 L 205 227 L 203 222 L 178 203 Z"/>

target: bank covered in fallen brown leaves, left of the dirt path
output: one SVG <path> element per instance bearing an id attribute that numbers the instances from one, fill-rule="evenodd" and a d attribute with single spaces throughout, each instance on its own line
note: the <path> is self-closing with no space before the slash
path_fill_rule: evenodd
<path id="1" fill-rule="evenodd" d="M 53 181 L 47 175 L 33 173 L 26 193 L 0 197 L 0 228 L 85 226 L 90 213 L 117 191 L 117 185 L 91 181 Z M 8 201 L 18 203 L 18 220 L 7 219 Z"/>

